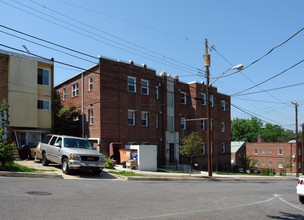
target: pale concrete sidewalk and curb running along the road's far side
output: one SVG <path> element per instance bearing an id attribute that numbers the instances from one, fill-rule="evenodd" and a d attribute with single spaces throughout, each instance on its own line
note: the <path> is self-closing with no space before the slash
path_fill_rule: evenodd
<path id="1" fill-rule="evenodd" d="M 0 171 L 0 176 L 16 176 L 16 177 L 31 177 L 31 178 L 62 178 L 62 179 L 90 179 L 90 180 L 127 180 L 127 181 L 278 181 L 278 180 L 297 180 L 296 176 L 257 176 L 257 175 L 219 175 L 213 173 L 212 177 L 208 176 L 207 172 L 199 174 L 188 173 L 166 173 L 130 170 L 123 168 L 121 165 L 116 165 L 113 171 L 132 171 L 144 176 L 129 176 L 110 174 L 107 169 L 104 169 L 99 176 L 90 175 L 87 172 L 77 172 L 77 174 L 66 175 L 62 173 L 61 166 L 50 164 L 42 166 L 41 163 L 35 163 L 32 160 L 15 161 L 16 164 L 34 168 L 39 170 L 37 173 L 17 173 Z"/>

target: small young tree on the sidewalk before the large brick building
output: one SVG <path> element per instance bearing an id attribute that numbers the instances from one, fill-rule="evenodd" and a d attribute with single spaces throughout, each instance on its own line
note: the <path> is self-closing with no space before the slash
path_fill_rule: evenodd
<path id="1" fill-rule="evenodd" d="M 180 154 L 190 158 L 190 175 L 192 173 L 192 160 L 194 157 L 197 157 L 201 154 L 202 145 L 203 140 L 198 136 L 196 132 L 192 132 L 183 139 L 182 145 L 179 146 Z"/>

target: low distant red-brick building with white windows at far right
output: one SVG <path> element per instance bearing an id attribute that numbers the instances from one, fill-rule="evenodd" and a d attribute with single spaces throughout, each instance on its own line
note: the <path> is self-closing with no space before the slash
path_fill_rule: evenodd
<path id="1" fill-rule="evenodd" d="M 256 160 L 254 165 L 257 170 L 265 168 L 273 169 L 276 173 L 296 172 L 298 167 L 299 173 L 302 172 L 301 165 L 301 143 L 298 144 L 299 161 L 296 165 L 296 142 L 262 142 L 261 136 L 256 143 L 246 143 L 246 156 Z M 286 168 L 292 164 L 292 168 Z"/>

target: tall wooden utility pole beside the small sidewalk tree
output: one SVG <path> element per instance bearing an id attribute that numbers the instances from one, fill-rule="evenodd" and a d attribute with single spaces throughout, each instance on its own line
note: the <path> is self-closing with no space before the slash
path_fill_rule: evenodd
<path id="1" fill-rule="evenodd" d="M 206 67 L 206 113 L 207 113 L 207 156 L 208 156 L 208 176 L 212 177 L 212 163 L 211 163 L 211 141 L 210 141 L 210 98 L 209 98 L 209 67 L 210 67 L 210 54 L 208 54 L 208 41 L 205 39 L 205 53 L 204 53 L 204 66 Z"/>

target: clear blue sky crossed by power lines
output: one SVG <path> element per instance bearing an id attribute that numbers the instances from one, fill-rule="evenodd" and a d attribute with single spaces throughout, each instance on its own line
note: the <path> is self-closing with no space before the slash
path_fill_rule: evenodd
<path id="1" fill-rule="evenodd" d="M 231 96 L 231 118 L 294 131 L 294 103 L 304 123 L 303 8 L 302 0 L 0 0 L 0 49 L 25 46 L 69 64 L 55 63 L 55 85 L 99 56 L 188 83 L 206 80 L 207 39 L 210 82 Z M 235 73 L 238 64 L 245 68 Z"/>

